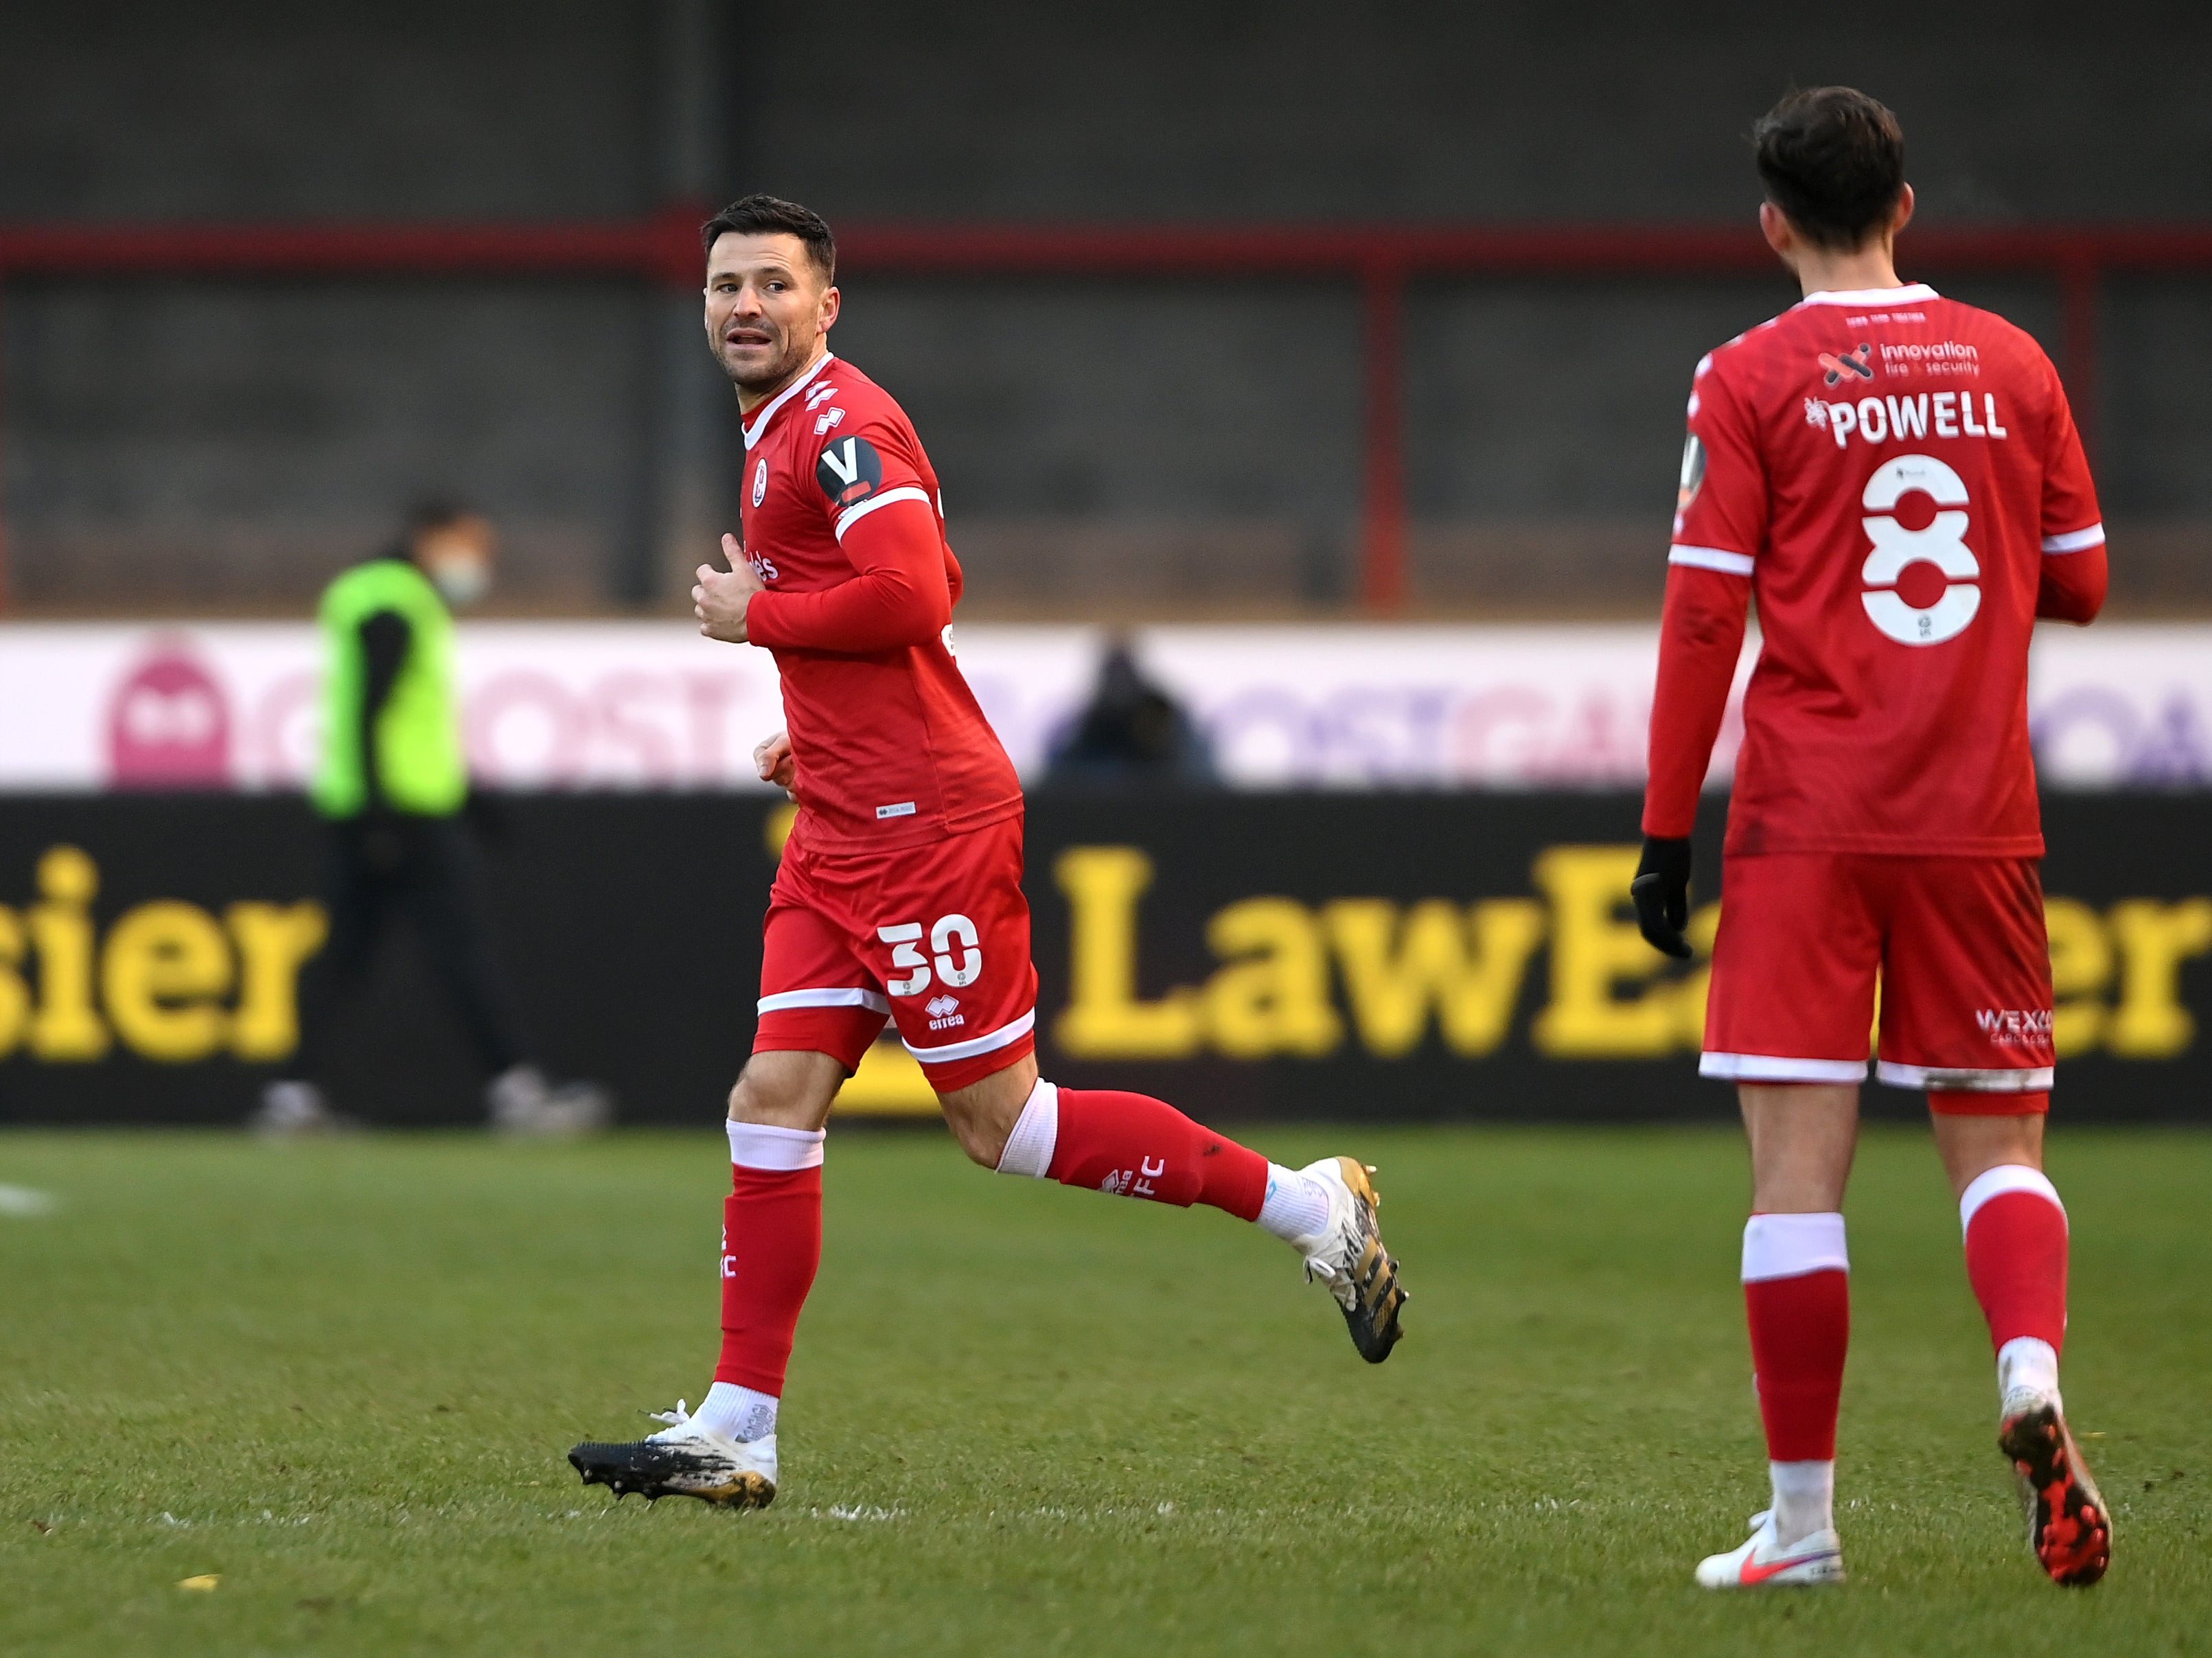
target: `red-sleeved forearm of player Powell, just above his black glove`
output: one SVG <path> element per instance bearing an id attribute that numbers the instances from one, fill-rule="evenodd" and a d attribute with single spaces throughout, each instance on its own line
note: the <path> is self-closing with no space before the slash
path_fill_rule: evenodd
<path id="1" fill-rule="evenodd" d="M 1644 785 L 1648 836 L 1679 838 L 1697 825 L 1697 794 L 1705 787 L 1712 743 L 1728 714 L 1750 595 L 1752 584 L 1741 575 L 1686 564 L 1668 570 L 1650 780 Z"/>

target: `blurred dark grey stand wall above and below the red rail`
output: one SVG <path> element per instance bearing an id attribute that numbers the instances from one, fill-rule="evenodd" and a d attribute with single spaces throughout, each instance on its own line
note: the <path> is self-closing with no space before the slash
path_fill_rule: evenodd
<path id="1" fill-rule="evenodd" d="M 0 223 L 615 219 L 745 188 L 841 223 L 1714 223 L 1756 206 L 1750 119 L 1820 80 L 1900 111 L 1929 221 L 2212 221 L 2212 11 L 2183 4 L 117 0 L 0 9 Z M 150 276 L 0 294 L 24 601 L 296 601 L 422 489 L 502 517 L 531 604 L 672 592 L 712 544 L 712 462 L 666 464 L 732 438 L 684 296 Z M 1953 292 L 2055 345 L 2046 285 Z M 1416 287 L 1416 588 L 1646 604 L 1690 365 L 1790 298 Z M 2106 504 L 2137 586 L 2179 601 L 2212 601 L 2208 318 L 2203 279 L 2115 283 L 2101 318 Z M 1285 608 L 1354 586 L 1358 329 L 1329 283 L 854 274 L 838 347 L 914 411 L 980 604 Z"/>

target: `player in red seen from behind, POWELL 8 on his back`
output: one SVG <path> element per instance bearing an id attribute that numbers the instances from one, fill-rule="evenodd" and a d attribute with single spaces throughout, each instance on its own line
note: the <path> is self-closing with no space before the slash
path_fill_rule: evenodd
<path id="1" fill-rule="evenodd" d="M 1754 130 L 1761 225 L 1805 292 L 1697 365 L 1652 707 L 1644 935 L 1690 955 L 1690 827 L 1759 601 L 1728 807 L 1701 1072 L 1736 1083 L 1772 1505 L 1708 1587 L 1836 1583 L 1843 1192 L 1867 1032 L 1927 1090 L 1997 1355 L 1997 1444 L 2055 1583 L 2104 1576 L 2112 1521 L 2066 1428 L 2066 1209 L 2044 1174 L 2051 953 L 2028 749 L 2037 617 L 2104 604 L 2097 495 L 2022 329 L 1900 283 L 1896 117 L 1785 97 Z"/>

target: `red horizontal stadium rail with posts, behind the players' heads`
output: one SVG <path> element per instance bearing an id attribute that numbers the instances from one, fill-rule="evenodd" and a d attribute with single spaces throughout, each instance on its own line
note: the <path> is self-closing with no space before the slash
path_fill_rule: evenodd
<path id="1" fill-rule="evenodd" d="M 708 208 L 630 223 L 0 225 L 9 276 L 573 276 L 692 287 Z M 1913 272 L 2048 276 L 2064 298 L 2059 367 L 2093 438 L 2097 303 L 2108 272 L 2212 272 L 2212 225 L 1929 228 Z M 1402 307 L 1413 276 L 1721 276 L 1774 267 L 1752 225 L 856 225 L 847 270 L 1024 276 L 1349 276 L 1365 305 L 1360 597 L 1402 610 Z M 0 427 L 4 431 L 4 427 Z M 0 610 L 7 555 L 0 542 Z"/>

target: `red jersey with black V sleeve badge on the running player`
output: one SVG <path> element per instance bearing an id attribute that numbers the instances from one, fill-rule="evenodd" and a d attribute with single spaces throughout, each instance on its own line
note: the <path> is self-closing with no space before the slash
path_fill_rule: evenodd
<path id="1" fill-rule="evenodd" d="M 922 442 L 883 387 L 825 356 L 745 422 L 745 555 L 770 595 L 823 592 L 856 579 L 841 542 L 885 508 L 927 511 L 942 562 L 925 579 L 945 584 L 936 597 L 951 615 L 960 566 Z M 951 626 L 927 643 L 792 646 L 776 641 L 774 608 L 754 599 L 748 617 L 783 676 L 803 844 L 887 851 L 1022 809 L 1013 763 L 953 661 Z"/>

